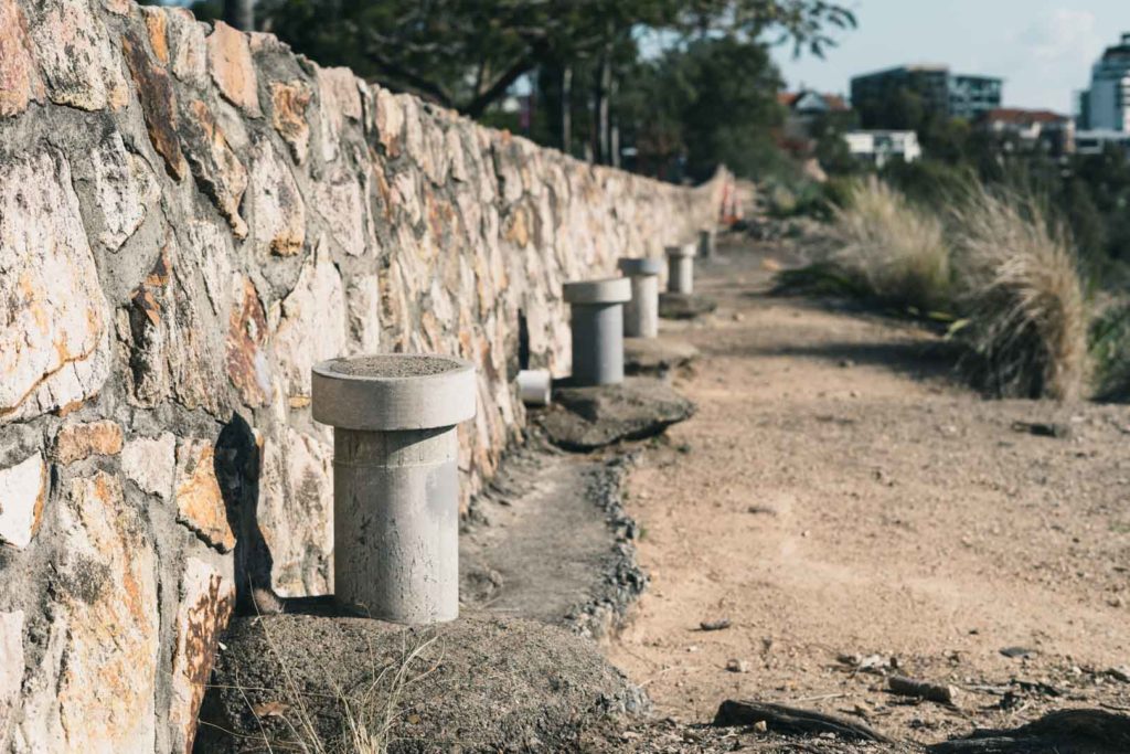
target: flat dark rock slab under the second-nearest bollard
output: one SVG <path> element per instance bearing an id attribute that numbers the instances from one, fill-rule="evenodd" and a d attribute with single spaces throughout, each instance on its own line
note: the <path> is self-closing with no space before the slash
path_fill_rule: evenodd
<path id="1" fill-rule="evenodd" d="M 621 440 L 643 440 L 690 418 L 695 405 L 666 382 L 629 378 L 618 385 L 558 387 L 541 425 L 554 444 L 594 450 Z"/>

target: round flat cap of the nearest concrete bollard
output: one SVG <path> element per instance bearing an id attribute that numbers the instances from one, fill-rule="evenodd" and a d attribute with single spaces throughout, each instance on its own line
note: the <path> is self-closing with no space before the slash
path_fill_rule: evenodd
<path id="1" fill-rule="evenodd" d="M 447 427 L 475 417 L 475 366 L 452 356 L 379 354 L 331 358 L 312 372 L 322 424 L 388 432 Z"/>

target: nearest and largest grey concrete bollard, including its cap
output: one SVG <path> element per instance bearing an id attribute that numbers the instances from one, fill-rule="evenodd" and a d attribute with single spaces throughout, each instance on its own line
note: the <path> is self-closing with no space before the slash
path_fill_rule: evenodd
<path id="1" fill-rule="evenodd" d="M 334 358 L 313 370 L 333 427 L 337 600 L 393 623 L 459 617 L 459 440 L 475 367 L 447 356 Z"/>

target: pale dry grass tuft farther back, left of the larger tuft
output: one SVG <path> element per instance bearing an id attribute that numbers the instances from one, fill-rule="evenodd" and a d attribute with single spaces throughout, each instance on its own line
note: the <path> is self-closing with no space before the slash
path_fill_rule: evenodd
<path id="1" fill-rule="evenodd" d="M 845 246 L 829 260 L 859 288 L 921 312 L 950 303 L 950 254 L 941 220 L 876 177 L 857 184 L 836 211 Z"/>

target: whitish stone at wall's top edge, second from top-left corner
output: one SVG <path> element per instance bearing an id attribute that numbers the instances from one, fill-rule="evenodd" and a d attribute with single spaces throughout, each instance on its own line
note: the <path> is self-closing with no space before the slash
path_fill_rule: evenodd
<path id="1" fill-rule="evenodd" d="M 129 99 L 118 45 L 88 0 L 45 0 L 31 14 L 32 41 L 47 97 L 81 110 L 118 109 Z"/>

